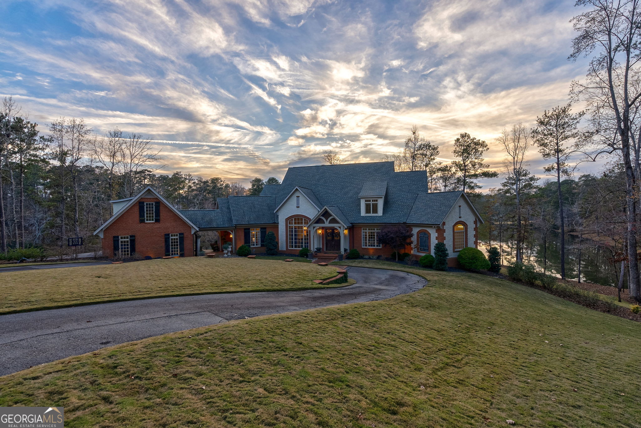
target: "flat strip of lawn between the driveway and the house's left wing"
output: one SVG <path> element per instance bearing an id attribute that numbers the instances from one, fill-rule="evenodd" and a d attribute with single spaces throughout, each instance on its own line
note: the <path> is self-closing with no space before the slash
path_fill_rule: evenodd
<path id="1" fill-rule="evenodd" d="M 0 314 L 114 300 L 324 288 L 336 270 L 307 263 L 204 257 L 0 274 Z"/>

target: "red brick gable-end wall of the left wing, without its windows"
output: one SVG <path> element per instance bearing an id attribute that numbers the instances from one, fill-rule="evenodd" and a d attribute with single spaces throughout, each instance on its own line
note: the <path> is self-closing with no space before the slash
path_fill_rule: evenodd
<path id="1" fill-rule="evenodd" d="M 165 256 L 165 233 L 185 235 L 185 257 L 194 256 L 192 228 L 160 201 L 160 222 L 141 223 L 138 217 L 138 202 L 156 202 L 158 198 L 143 197 L 133 204 L 112 224 L 104 229 L 103 256 L 113 257 L 113 236 L 135 235 L 136 252 L 140 256 Z"/>

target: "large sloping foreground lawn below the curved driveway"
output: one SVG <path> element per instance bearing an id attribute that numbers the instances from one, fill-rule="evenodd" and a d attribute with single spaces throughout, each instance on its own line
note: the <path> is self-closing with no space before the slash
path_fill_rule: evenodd
<path id="1" fill-rule="evenodd" d="M 406 270 L 429 285 L 38 366 L 0 378 L 0 406 L 65 406 L 67 427 L 641 426 L 638 323 L 492 277 Z"/>

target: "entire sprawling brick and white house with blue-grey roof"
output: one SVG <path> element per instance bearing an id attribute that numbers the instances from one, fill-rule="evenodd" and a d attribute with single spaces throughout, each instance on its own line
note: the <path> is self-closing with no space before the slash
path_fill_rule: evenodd
<path id="1" fill-rule="evenodd" d="M 194 249 L 201 248 L 199 233 L 206 231 L 217 233 L 220 242 L 230 242 L 233 249 L 247 244 L 260 253 L 265 252 L 265 236 L 272 231 L 281 253 L 296 254 L 303 247 L 331 253 L 355 248 L 363 255 L 390 256 L 392 250 L 378 242 L 378 231 L 383 224 L 397 223 L 412 227 L 413 244 L 405 252 L 419 258 L 433 253 L 435 243 L 444 242 L 454 265 L 458 251 L 478 246 L 477 227 L 483 220 L 465 193 L 428 193 L 427 188 L 424 171 L 395 172 L 394 162 L 292 167 L 282 184 L 266 185 L 260 196 L 219 198 L 217 210 L 175 210 L 149 188 L 131 201 L 142 206 L 140 201 L 147 201 L 142 195 L 151 190 L 156 199 L 149 201 L 160 202 L 161 219 L 165 206 L 164 218 L 171 218 L 171 223 L 143 223 L 142 211 L 138 212 L 142 208 L 137 210 L 135 202 L 121 200 L 113 203 L 129 201 L 126 203 L 131 213 L 112 222 L 121 226 L 112 227 L 110 218 L 97 232 L 103 232 L 106 255 L 115 248 L 115 236 L 135 235 L 128 232 L 131 229 L 153 234 L 153 239 L 146 238 L 145 249 L 136 236 L 141 255 L 164 255 L 166 235 L 176 232 L 183 234 L 185 242 L 187 233 L 193 235 L 189 250 L 185 243 L 185 253 L 181 254 L 193 255 Z M 151 220 L 151 206 L 145 209 L 150 210 Z M 105 243 L 112 236 L 113 245 Z M 154 249 L 147 249 L 147 245 Z"/>

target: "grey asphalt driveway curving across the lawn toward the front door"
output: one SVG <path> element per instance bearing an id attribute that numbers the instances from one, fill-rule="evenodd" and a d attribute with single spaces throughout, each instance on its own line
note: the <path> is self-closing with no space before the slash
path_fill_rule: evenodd
<path id="1" fill-rule="evenodd" d="M 224 293 L 131 300 L 0 316 L 0 375 L 118 343 L 228 320 L 383 300 L 425 286 L 399 272 L 349 267 L 358 283 L 297 292 Z"/>

